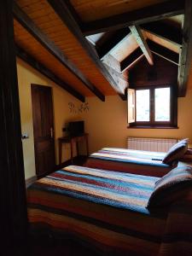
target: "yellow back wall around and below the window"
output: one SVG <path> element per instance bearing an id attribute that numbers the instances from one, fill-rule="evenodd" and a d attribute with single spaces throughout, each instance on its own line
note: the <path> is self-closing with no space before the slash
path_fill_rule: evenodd
<path id="1" fill-rule="evenodd" d="M 90 133 L 90 152 L 102 147 L 126 147 L 127 137 L 189 137 L 192 143 L 192 90 L 178 98 L 179 129 L 127 129 L 126 102 L 119 96 L 107 96 L 106 102 L 88 98 L 90 111 L 84 115 Z"/>

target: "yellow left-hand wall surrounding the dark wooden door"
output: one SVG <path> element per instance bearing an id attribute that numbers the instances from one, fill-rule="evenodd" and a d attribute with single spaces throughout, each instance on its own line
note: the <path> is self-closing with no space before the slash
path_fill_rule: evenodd
<path id="1" fill-rule="evenodd" d="M 32 97 L 31 84 L 49 85 L 53 88 L 53 104 L 55 119 L 55 153 L 56 162 L 58 163 L 58 142 L 57 138 L 63 136 L 62 127 L 70 120 L 80 119 L 79 113 L 70 113 L 68 102 L 75 103 L 79 106 L 81 102 L 62 90 L 61 87 L 54 84 L 49 79 L 38 73 L 24 61 L 17 59 L 17 73 L 20 93 L 20 118 L 22 133 L 29 134 L 29 139 L 22 141 L 25 176 L 26 178 L 35 176 L 35 158 L 33 143 L 33 127 L 32 127 Z M 70 158 L 69 145 L 64 145 L 62 161 Z"/>

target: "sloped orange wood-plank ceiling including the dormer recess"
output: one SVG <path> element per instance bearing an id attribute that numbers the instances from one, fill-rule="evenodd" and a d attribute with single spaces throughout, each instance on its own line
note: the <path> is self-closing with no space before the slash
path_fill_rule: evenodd
<path id="1" fill-rule="evenodd" d="M 67 86 L 71 86 L 73 90 L 77 90 L 82 96 L 98 96 L 104 101 L 105 96 L 119 94 L 122 99 L 125 99 L 123 94 L 128 86 L 129 69 L 137 65 L 137 62 L 146 54 L 141 52 L 136 35 L 131 33 L 129 26 L 125 26 L 86 36 L 84 34 L 84 27 L 89 27 L 90 21 L 96 22 L 97 20 L 113 18 L 127 12 L 130 13 L 146 8 L 150 9 L 155 4 L 161 4 L 162 8 L 163 4 L 166 6 L 167 3 L 171 6 L 171 9 L 173 8 L 173 13 L 183 13 L 182 8 L 179 11 L 175 10 L 175 6 L 171 5 L 171 2 L 173 3 L 174 1 L 15 1 L 18 8 L 42 32 L 41 35 L 44 34 L 45 39 L 49 39 L 49 42 L 54 45 L 54 49 L 59 49 L 61 55 L 69 61 L 71 65 L 69 66 L 75 67 L 74 69 L 63 65 L 63 62 L 53 55 L 49 48 L 42 44 L 38 36 L 20 22 L 18 15 L 15 15 L 14 11 L 15 42 L 27 55 L 30 55 L 38 63 L 44 65 L 44 68 L 48 68 L 56 78 L 61 79 Z M 60 13 L 56 11 L 55 6 L 58 3 L 61 6 L 63 5 L 63 9 L 67 8 L 67 15 L 68 12 L 70 13 L 68 15 L 69 20 L 71 17 L 71 20 L 75 20 L 76 23 L 74 24 L 77 24 L 77 29 L 75 28 L 74 32 L 71 27 L 67 26 L 67 23 L 64 22 L 65 20 L 61 19 L 61 13 L 64 10 L 61 9 Z M 148 42 L 154 43 L 148 44 L 148 51 L 152 51 L 152 55 L 154 55 L 154 50 L 150 49 L 150 45 L 155 47 L 157 44 L 164 49 L 168 49 L 167 54 L 171 53 L 177 59 L 181 52 L 184 15 L 170 15 L 165 15 L 165 17 L 161 15 L 160 21 L 154 20 L 154 30 L 157 27 L 158 32 L 148 29 L 148 22 L 144 26 L 137 26 L 137 29 L 140 37 L 143 38 L 144 44 L 148 44 Z M 150 22 L 150 28 L 151 26 L 153 26 L 153 22 Z M 160 26 L 168 26 L 171 35 L 177 32 L 176 39 L 178 39 L 179 44 L 167 38 L 167 35 L 160 34 Z M 79 40 L 79 38 L 82 38 L 83 41 Z M 157 47 L 157 49 L 160 50 L 160 47 Z M 129 63 L 127 67 L 125 66 L 126 61 Z M 123 69 L 122 63 L 124 63 Z M 175 65 L 178 65 L 178 63 Z M 192 70 L 192 67 L 190 68 Z M 73 72 L 74 70 L 75 72 Z M 83 79 L 81 79 L 82 76 Z M 189 82 L 190 79 L 192 81 L 190 76 L 188 87 L 191 86 L 192 88 L 192 83 Z"/>

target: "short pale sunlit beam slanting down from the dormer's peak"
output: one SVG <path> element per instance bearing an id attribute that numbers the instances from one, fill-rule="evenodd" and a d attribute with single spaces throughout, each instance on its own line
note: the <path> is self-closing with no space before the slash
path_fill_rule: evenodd
<path id="1" fill-rule="evenodd" d="M 147 44 L 145 38 L 143 37 L 143 33 L 142 33 L 140 27 L 139 26 L 130 26 L 130 30 L 132 32 L 132 35 L 136 39 L 137 44 L 142 49 L 143 54 L 145 55 L 146 59 L 148 60 L 148 63 L 150 65 L 154 65 L 153 55 L 152 55 L 150 49 L 148 48 L 148 44 Z"/>

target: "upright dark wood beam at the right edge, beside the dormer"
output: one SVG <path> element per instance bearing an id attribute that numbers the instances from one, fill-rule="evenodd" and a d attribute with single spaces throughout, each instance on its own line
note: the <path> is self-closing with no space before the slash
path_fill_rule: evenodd
<path id="1" fill-rule="evenodd" d="M 178 67 L 178 96 L 185 96 L 192 57 L 192 2 L 185 0 L 183 42 Z"/>

